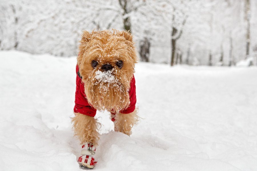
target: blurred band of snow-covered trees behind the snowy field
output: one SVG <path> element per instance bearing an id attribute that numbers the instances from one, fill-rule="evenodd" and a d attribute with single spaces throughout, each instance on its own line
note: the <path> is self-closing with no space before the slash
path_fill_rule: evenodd
<path id="1" fill-rule="evenodd" d="M 256 55 L 255 0 L 0 0 L 0 9 L 1 50 L 73 56 L 82 30 L 114 28 L 132 32 L 142 61 L 232 66 Z"/>

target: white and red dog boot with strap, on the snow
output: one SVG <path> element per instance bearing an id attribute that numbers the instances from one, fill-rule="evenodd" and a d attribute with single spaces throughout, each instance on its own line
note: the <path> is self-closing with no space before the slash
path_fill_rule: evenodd
<path id="1" fill-rule="evenodd" d="M 84 143 L 82 145 L 81 156 L 78 159 L 80 168 L 82 169 L 93 169 L 95 167 L 95 146 L 92 143 Z"/>

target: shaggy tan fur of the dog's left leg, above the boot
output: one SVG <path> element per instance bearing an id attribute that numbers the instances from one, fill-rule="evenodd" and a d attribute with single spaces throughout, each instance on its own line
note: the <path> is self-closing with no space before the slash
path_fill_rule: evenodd
<path id="1" fill-rule="evenodd" d="M 81 113 L 75 113 L 75 117 L 71 118 L 73 122 L 74 136 L 77 136 L 81 142 L 91 142 L 97 145 L 99 140 L 99 129 L 101 127 L 97 119 L 91 116 L 83 115 Z"/>

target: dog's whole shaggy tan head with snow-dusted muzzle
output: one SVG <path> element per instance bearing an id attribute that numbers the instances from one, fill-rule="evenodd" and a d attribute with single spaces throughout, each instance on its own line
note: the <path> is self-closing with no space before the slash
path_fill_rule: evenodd
<path id="1" fill-rule="evenodd" d="M 132 35 L 117 30 L 84 31 L 79 51 L 77 61 L 88 102 L 100 111 L 127 108 L 137 60 Z"/>

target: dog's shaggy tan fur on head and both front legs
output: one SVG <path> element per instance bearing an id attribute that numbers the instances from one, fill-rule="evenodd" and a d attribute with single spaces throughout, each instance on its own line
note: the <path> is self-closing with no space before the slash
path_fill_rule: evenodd
<path id="1" fill-rule="evenodd" d="M 93 60 L 98 62 L 96 68 L 91 66 Z M 120 60 L 123 61 L 122 68 L 116 65 Z M 129 114 L 122 114 L 119 111 L 126 109 L 130 104 L 128 91 L 136 61 L 136 50 L 129 32 L 83 31 L 77 64 L 82 82 L 85 83 L 87 101 L 99 111 L 106 109 L 117 113 L 115 131 L 127 135 L 131 134 L 131 128 L 137 123 L 138 116 L 136 110 Z M 107 71 L 109 74 L 105 77 L 108 78 L 103 78 L 104 64 L 113 66 L 112 70 Z M 75 135 L 81 143 L 97 144 L 99 123 L 96 119 L 77 113 L 72 122 Z"/>

